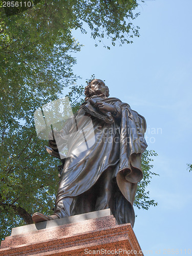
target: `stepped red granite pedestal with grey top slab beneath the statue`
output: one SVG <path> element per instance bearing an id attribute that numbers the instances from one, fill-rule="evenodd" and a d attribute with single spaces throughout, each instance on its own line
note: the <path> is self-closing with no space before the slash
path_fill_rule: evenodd
<path id="1" fill-rule="evenodd" d="M 0 255 L 143 255 L 130 223 L 118 225 L 109 209 L 98 212 L 15 228 Z"/>

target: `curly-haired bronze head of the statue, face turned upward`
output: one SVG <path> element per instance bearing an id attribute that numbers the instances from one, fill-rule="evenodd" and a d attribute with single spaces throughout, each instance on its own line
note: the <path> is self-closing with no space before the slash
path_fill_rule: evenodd
<path id="1" fill-rule="evenodd" d="M 106 97 L 109 97 L 109 88 L 105 86 L 105 83 L 101 79 L 93 79 L 88 83 L 84 89 L 84 94 L 86 95 L 86 100 L 93 95 L 104 94 Z"/>

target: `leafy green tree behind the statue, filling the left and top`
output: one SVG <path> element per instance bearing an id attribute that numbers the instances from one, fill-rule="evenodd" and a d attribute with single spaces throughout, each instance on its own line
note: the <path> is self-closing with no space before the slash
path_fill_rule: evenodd
<path id="1" fill-rule="evenodd" d="M 1 8 L 1 239 L 12 227 L 32 223 L 34 211 L 51 214 L 54 207 L 58 162 L 46 154 L 47 142 L 38 139 L 33 113 L 57 99 L 69 84 L 73 85 L 71 100 L 82 93 L 82 87 L 74 86 L 72 53 L 80 50 L 80 44 L 73 29 L 86 33 L 87 24 L 98 42 L 104 36 L 111 38 L 112 45 L 132 42 L 133 36 L 139 36 L 131 22 L 139 15 L 133 14 L 137 6 L 134 0 L 47 0 L 11 16 Z M 147 197 L 144 200 L 147 207 Z"/>

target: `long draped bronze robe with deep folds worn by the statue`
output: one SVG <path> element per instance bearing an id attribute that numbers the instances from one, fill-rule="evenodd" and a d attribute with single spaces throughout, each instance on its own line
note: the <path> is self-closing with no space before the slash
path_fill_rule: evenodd
<path id="1" fill-rule="evenodd" d="M 119 224 L 130 222 L 133 226 L 133 203 L 137 183 L 143 177 L 141 154 L 147 147 L 144 139 L 146 122 L 144 117 L 117 98 L 104 97 L 99 100 L 115 106 L 117 115 L 112 116 L 112 121 L 100 119 L 97 113 L 92 115 L 86 109 L 88 100 L 81 105 L 75 118 L 69 120 L 59 132 L 57 145 L 67 144 L 68 153 L 61 172 L 55 212 L 60 201 L 65 198 L 78 199 L 78 196 L 89 191 L 110 167 L 115 189 L 112 213 Z M 78 212 L 78 209 L 74 211 L 74 205 L 70 206 L 69 201 L 67 204 L 65 207 L 64 203 L 67 215 L 82 213 Z"/>

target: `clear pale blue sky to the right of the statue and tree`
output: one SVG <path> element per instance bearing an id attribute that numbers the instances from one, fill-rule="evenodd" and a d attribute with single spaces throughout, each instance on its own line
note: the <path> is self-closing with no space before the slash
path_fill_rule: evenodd
<path id="1" fill-rule="evenodd" d="M 132 45 L 109 51 L 102 44 L 95 47 L 89 33 L 75 31 L 84 47 L 76 54 L 74 73 L 82 77 L 82 84 L 92 74 L 105 80 L 110 96 L 146 118 L 148 149 L 158 153 L 153 171 L 160 175 L 148 190 L 158 206 L 148 211 L 135 208 L 134 231 L 145 255 L 188 255 L 192 253 L 192 173 L 186 165 L 192 163 L 192 1 L 146 1 L 138 9 L 141 15 L 134 24 L 140 26 L 140 37 Z"/>

